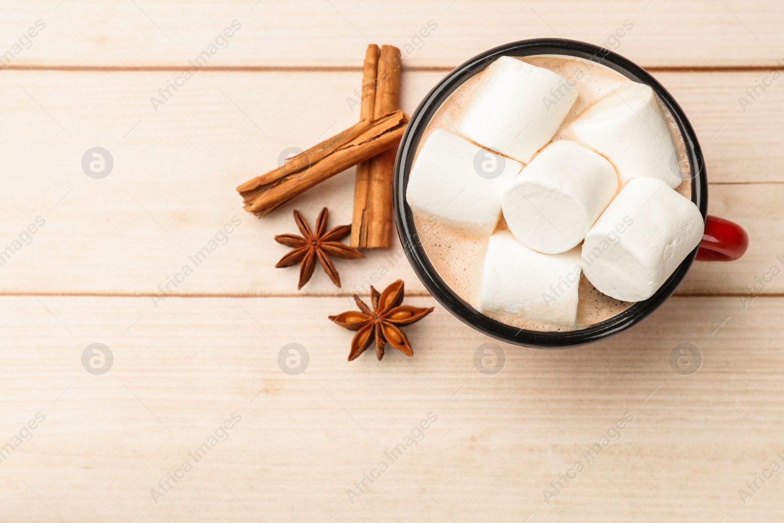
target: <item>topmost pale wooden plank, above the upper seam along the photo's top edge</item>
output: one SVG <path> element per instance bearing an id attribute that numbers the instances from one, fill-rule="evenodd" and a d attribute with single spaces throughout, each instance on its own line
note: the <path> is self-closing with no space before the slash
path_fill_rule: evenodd
<path id="1" fill-rule="evenodd" d="M 784 45 L 778 0 L 406 0 L 383 8 L 359 0 L 34 0 L 3 2 L 3 14 L 3 52 L 36 20 L 46 24 L 29 49 L 18 48 L 13 67 L 184 67 L 233 20 L 241 29 L 219 42 L 225 49 L 215 49 L 211 67 L 361 67 L 368 41 L 404 49 L 411 67 L 454 67 L 495 45 L 542 37 L 605 45 L 645 66 L 767 66 Z"/>

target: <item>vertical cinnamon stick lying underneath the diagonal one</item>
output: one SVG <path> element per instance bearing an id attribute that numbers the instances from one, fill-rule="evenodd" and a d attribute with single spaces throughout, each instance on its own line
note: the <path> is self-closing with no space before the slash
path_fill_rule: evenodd
<path id="1" fill-rule="evenodd" d="M 368 45 L 363 70 L 363 97 L 361 114 L 367 114 L 372 104 L 375 118 L 400 108 L 400 49 L 393 45 L 383 45 L 376 64 L 376 89 L 371 96 L 365 97 L 364 85 L 368 74 L 372 74 L 372 59 L 375 54 Z M 366 164 L 358 165 L 357 181 L 354 186 L 354 216 L 351 227 L 351 246 L 362 249 L 387 249 L 392 242 L 392 178 L 397 148 L 372 158 Z"/>

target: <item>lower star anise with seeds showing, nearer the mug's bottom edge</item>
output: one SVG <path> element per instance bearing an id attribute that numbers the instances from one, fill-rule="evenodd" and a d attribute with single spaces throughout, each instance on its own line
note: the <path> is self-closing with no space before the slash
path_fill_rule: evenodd
<path id="1" fill-rule="evenodd" d="M 354 340 L 351 340 L 351 351 L 348 354 L 348 361 L 357 358 L 365 352 L 373 340 L 376 340 L 376 357 L 384 357 L 384 346 L 389 343 L 392 347 L 400 350 L 406 356 L 413 356 L 414 350 L 408 337 L 405 336 L 400 327 L 411 325 L 419 321 L 427 314 L 433 312 L 434 307 L 419 308 L 403 303 L 403 280 L 397 280 L 392 285 L 384 289 L 379 294 L 374 287 L 370 287 L 370 297 L 373 303 L 373 310 L 365 305 L 365 302 L 354 294 L 354 301 L 360 311 L 347 311 L 337 316 L 330 316 L 329 319 L 346 329 L 357 331 Z"/>

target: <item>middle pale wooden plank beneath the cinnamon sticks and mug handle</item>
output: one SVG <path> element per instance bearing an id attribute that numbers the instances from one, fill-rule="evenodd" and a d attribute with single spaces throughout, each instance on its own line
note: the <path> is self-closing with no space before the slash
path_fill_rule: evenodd
<path id="1" fill-rule="evenodd" d="M 413 111 L 440 77 L 404 74 L 405 111 Z M 777 167 L 784 153 L 775 142 L 784 123 L 768 118 L 784 109 L 784 91 L 771 89 L 743 114 L 734 97 L 753 85 L 753 73 L 659 77 L 695 124 L 710 180 L 734 183 L 713 187 L 710 211 L 745 223 L 752 238 L 743 260 L 696 264 L 681 289 L 747 292 L 746 285 L 782 254 L 784 186 L 767 182 L 784 180 Z M 361 73 L 203 72 L 154 111 L 150 97 L 173 78 L 166 71 L 0 76 L 0 250 L 13 245 L 37 216 L 46 220 L 31 245 L 0 267 L 0 292 L 152 295 L 191 265 L 194 274 L 169 290 L 296 293 L 296 267 L 274 269 L 288 249 L 272 238 L 296 231 L 292 209 L 314 220 L 328 206 L 330 223 L 349 223 L 353 169 L 263 220 L 242 211 L 234 187 L 274 167 L 288 147 L 307 148 L 356 122 L 358 106 L 349 102 Z M 113 171 L 102 180 L 82 170 L 82 156 L 96 146 L 114 158 Z M 242 223 L 228 244 L 195 267 L 189 256 L 234 216 Z M 317 269 L 303 292 L 366 292 L 371 282 L 387 285 L 394 278 L 423 292 L 402 254 L 396 243 L 387 252 L 368 252 L 368 260 L 339 260 L 343 289 Z M 777 279 L 766 292 L 782 289 Z"/>

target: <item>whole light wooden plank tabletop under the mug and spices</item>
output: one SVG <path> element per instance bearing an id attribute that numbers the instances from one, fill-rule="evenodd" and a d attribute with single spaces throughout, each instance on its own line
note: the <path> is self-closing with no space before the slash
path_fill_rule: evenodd
<path id="1" fill-rule="evenodd" d="M 233 20 L 156 111 L 151 97 Z M 780 0 L 3 0 L 0 521 L 784 521 L 784 472 L 764 472 L 784 467 L 784 277 L 765 276 L 784 269 L 784 80 L 739 101 L 781 67 L 782 27 Z M 742 260 L 695 263 L 649 321 L 605 343 L 499 343 L 495 376 L 474 367 L 492 340 L 437 307 L 392 257 L 399 244 L 338 262 L 343 289 L 317 269 L 296 292 L 296 268 L 274 269 L 295 207 L 350 221 L 354 171 L 263 220 L 234 187 L 356 122 L 368 41 L 404 49 L 411 112 L 470 56 L 556 35 L 612 45 L 670 89 L 706 153 L 710 212 L 749 231 Z M 100 180 L 82 170 L 91 147 L 114 159 Z M 154 303 L 234 216 L 226 245 Z M 382 267 L 380 286 L 402 278 L 410 303 L 437 310 L 408 329 L 413 358 L 348 363 L 351 333 L 327 316 Z M 82 366 L 92 343 L 114 356 L 101 376 Z M 299 376 L 278 366 L 288 343 L 307 348 Z M 670 366 L 680 343 L 702 354 L 694 375 Z M 625 414 L 588 464 L 581 452 Z M 211 447 L 216 430 L 227 439 Z M 773 477 L 752 490 L 755 474 Z"/>

